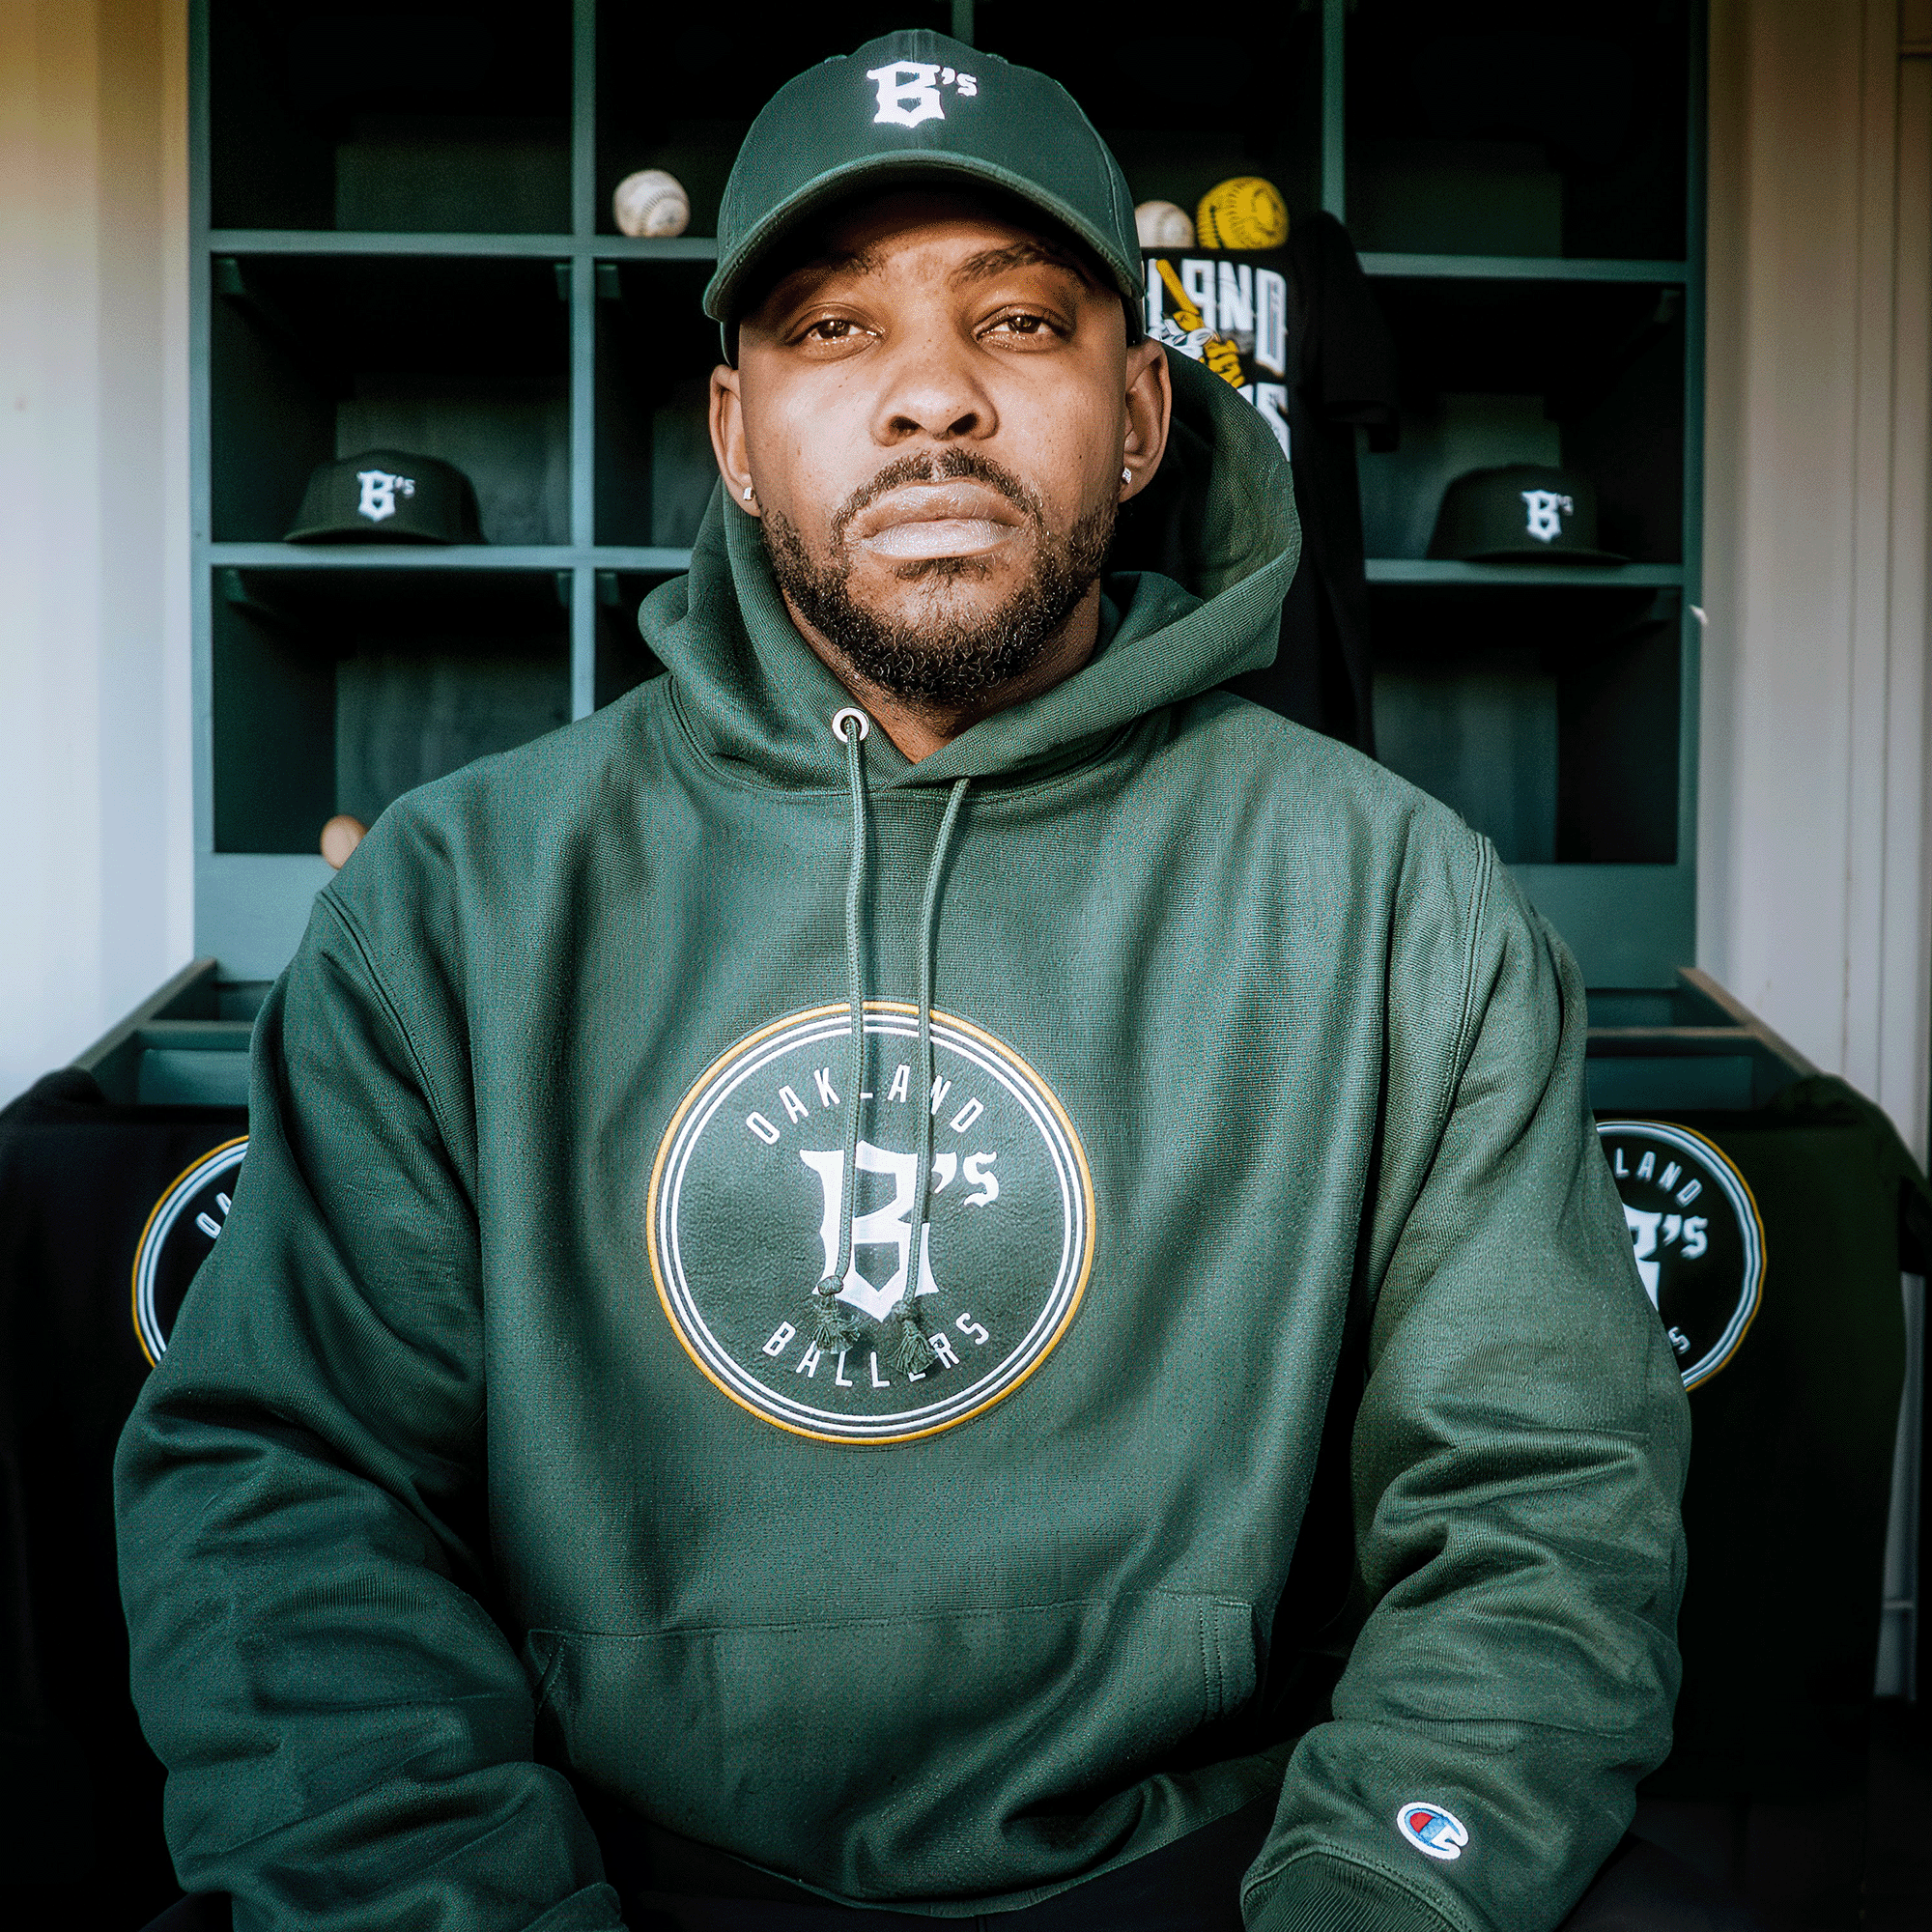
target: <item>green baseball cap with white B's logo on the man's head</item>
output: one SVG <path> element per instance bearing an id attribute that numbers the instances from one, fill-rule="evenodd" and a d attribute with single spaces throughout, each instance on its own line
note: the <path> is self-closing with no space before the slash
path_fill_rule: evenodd
<path id="1" fill-rule="evenodd" d="M 800 218 L 854 189 L 976 182 L 1039 209 L 1092 249 L 1140 317 L 1140 236 L 1126 176 L 1059 81 L 908 27 L 823 60 L 765 102 L 719 205 L 705 315 L 730 327 L 759 261 Z"/>

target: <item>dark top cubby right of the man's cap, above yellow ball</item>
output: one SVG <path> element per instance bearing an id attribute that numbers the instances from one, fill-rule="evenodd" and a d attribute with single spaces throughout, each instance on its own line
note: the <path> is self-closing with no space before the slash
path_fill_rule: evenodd
<path id="1" fill-rule="evenodd" d="M 989 6 L 980 43 L 1051 73 L 1121 160 L 1136 201 L 1188 214 L 1217 182 L 1265 176 L 1291 214 L 1321 205 L 1321 25 L 1312 8 L 1204 15 L 1171 4 L 1109 8 L 1107 31 L 1078 8 Z"/>

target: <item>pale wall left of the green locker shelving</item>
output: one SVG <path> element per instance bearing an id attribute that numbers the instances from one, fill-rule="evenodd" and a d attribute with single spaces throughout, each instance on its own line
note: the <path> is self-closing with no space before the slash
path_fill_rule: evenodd
<path id="1" fill-rule="evenodd" d="M 189 956 L 185 0 L 0 0 L 0 1101 Z"/>

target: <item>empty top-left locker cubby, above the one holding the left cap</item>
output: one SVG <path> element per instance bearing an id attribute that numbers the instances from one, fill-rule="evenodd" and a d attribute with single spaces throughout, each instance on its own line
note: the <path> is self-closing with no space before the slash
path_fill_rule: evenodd
<path id="1" fill-rule="evenodd" d="M 214 228 L 566 234 L 570 0 L 209 4 Z"/>

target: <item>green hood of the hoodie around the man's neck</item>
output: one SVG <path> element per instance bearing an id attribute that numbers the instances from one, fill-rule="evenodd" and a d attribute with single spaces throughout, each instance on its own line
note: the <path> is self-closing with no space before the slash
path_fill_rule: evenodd
<path id="1" fill-rule="evenodd" d="M 918 765 L 875 732 L 866 746 L 875 790 L 1034 777 L 1090 755 L 1161 705 L 1273 661 L 1300 558 L 1289 466 L 1262 417 L 1219 377 L 1184 355 L 1167 359 L 1167 456 L 1121 514 L 1101 583 L 1101 647 L 1070 678 Z M 709 755 L 784 788 L 846 782 L 827 723 L 852 697 L 792 624 L 757 520 L 723 489 L 711 495 L 690 576 L 653 591 L 638 628 Z"/>

